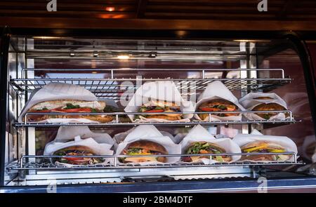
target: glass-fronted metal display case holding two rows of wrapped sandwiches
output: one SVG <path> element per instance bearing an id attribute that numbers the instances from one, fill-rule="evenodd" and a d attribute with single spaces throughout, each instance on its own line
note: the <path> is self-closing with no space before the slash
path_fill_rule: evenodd
<path id="1" fill-rule="evenodd" d="M 2 40 L 3 41 L 3 40 Z M 1 190 L 8 192 L 45 192 L 57 186 L 58 192 L 224 192 L 255 191 L 258 178 L 268 180 L 269 189 L 315 189 L 312 175 L 315 127 L 306 67 L 291 39 L 159 39 L 137 37 L 28 36 L 10 35 L 4 39 L 1 56 Z M 238 111 L 229 114 L 289 114 L 287 119 L 214 121 L 220 112 L 176 112 L 209 114 L 209 120 L 133 122 L 124 112 L 124 103 L 148 81 L 173 81 L 183 98 L 196 102 L 213 81 L 220 81 L 237 98 L 251 92 L 277 93 L 288 109 L 275 111 Z M 119 112 L 109 123 L 34 123 L 22 108 L 32 93 L 49 83 L 74 84 L 91 91 L 99 100 Z M 175 112 L 154 112 L 172 114 Z M 55 113 L 60 114 L 60 112 Z M 71 113 L 67 113 L 72 115 Z M 87 112 L 73 115 L 88 115 Z M 94 113 L 96 114 L 96 113 Z M 51 113 L 51 115 L 54 115 Z M 290 154 L 294 161 L 237 161 L 216 163 L 159 163 L 123 165 L 116 160 L 124 155 L 91 156 L 113 159 L 101 165 L 56 166 L 43 155 L 60 126 L 88 126 L 91 131 L 114 135 L 139 125 L 154 125 L 173 137 L 185 134 L 198 124 L 214 128 L 217 134 L 230 130 L 239 133 L 261 131 L 265 135 L 291 138 L 297 147 Z M 5 130 L 4 130 L 5 129 Z M 232 156 L 245 153 L 223 153 Z M 260 154 L 260 153 L 258 153 Z M 267 154 L 267 153 L 265 153 Z M 269 154 L 269 153 L 268 153 Z M 187 156 L 169 154 L 166 156 Z M 71 156 L 70 156 L 71 157 Z M 74 156 L 76 157 L 76 156 Z M 124 156 L 126 157 L 126 156 Z M 306 168 L 305 171 L 301 170 Z M 310 169 L 310 170 L 309 170 Z"/>

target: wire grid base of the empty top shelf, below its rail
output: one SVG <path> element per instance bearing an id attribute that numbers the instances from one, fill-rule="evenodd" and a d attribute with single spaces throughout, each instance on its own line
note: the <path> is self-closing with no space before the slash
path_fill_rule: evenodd
<path id="1" fill-rule="evenodd" d="M 142 83 L 166 80 L 173 81 L 179 91 L 187 91 L 188 93 L 192 90 L 201 92 L 212 81 L 223 81 L 223 84 L 231 91 L 270 91 L 277 86 L 291 82 L 291 79 L 141 79 Z M 51 82 L 75 84 L 88 89 L 98 98 L 118 100 L 121 94 L 127 90 L 135 92 L 141 86 L 137 83 L 138 81 L 140 79 L 11 79 L 11 85 L 18 91 L 32 92 Z"/>

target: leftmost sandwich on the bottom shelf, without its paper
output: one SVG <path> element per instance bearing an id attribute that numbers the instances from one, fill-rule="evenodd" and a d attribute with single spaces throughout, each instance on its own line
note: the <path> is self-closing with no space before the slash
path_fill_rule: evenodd
<path id="1" fill-rule="evenodd" d="M 98 155 L 93 152 L 92 149 L 85 146 L 72 146 L 72 147 L 65 147 L 63 149 L 59 149 L 58 151 L 54 152 L 53 155 L 57 156 L 93 156 Z M 55 161 L 60 163 L 68 163 L 72 165 L 93 165 L 97 163 L 103 163 L 103 158 L 94 158 L 94 157 L 58 157 L 54 158 Z"/>

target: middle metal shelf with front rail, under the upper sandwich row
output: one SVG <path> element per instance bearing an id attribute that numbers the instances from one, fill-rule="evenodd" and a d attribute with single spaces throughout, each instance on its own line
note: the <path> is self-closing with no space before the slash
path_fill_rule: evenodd
<path id="1" fill-rule="evenodd" d="M 285 120 L 243 120 L 242 121 L 213 121 L 212 116 L 216 114 L 254 114 L 254 113 L 284 113 L 289 114 L 289 117 Z M 180 121 L 169 121 L 169 122 L 121 122 L 120 116 L 127 116 L 129 114 L 133 115 L 145 115 L 145 114 L 209 114 L 208 121 L 197 121 L 192 118 L 192 120 L 187 122 Z M 113 121 L 107 123 L 36 123 L 28 122 L 27 117 L 32 115 L 107 115 L 113 116 Z M 197 124 L 201 125 L 230 125 L 230 124 L 251 124 L 251 123 L 271 123 L 271 124 L 289 124 L 296 123 L 299 120 L 294 119 L 294 116 L 289 110 L 274 110 L 274 111 L 237 111 L 237 112 L 113 112 L 113 113 L 61 113 L 61 112 L 48 112 L 48 113 L 26 113 L 24 122 L 15 122 L 13 126 L 16 127 L 58 127 L 58 126 L 95 126 L 95 127 L 106 127 L 106 126 L 138 126 L 138 125 L 155 125 L 155 126 L 194 126 Z"/>

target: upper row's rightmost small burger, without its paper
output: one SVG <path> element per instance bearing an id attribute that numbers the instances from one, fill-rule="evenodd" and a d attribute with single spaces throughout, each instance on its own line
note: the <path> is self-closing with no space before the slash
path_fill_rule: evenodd
<path id="1" fill-rule="evenodd" d="M 284 108 L 282 105 L 279 105 L 275 102 L 270 102 L 270 103 L 262 103 L 260 105 L 256 105 L 252 109 L 252 111 L 284 111 L 287 110 Z M 256 115 L 260 116 L 263 119 L 270 119 L 272 116 L 275 116 L 279 113 L 277 112 L 270 112 L 270 113 L 255 113 Z M 289 116 L 289 113 L 284 113 L 285 116 Z"/>

